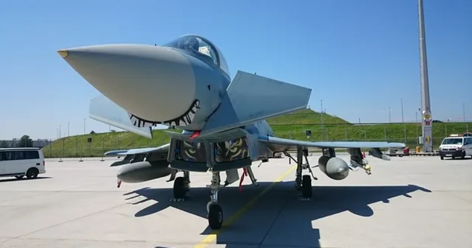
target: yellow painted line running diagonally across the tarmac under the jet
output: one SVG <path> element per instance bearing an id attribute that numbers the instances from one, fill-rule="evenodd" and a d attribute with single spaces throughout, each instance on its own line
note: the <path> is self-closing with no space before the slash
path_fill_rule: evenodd
<path id="1" fill-rule="evenodd" d="M 266 194 L 272 187 L 274 187 L 277 183 L 280 183 L 283 178 L 285 178 L 287 175 L 289 175 L 293 170 L 295 170 L 297 166 L 294 166 L 290 168 L 288 171 L 284 172 L 284 174 L 280 175 L 277 179 L 275 179 L 272 184 L 264 188 L 262 192 L 260 192 L 258 195 L 256 195 L 254 198 L 252 198 L 249 202 L 246 203 L 243 207 L 239 208 L 239 210 L 236 211 L 236 213 L 231 216 L 227 221 L 223 222 L 223 226 L 221 227 L 220 230 L 215 230 L 211 234 L 207 235 L 200 243 L 194 246 L 194 248 L 206 248 L 207 246 L 211 245 L 213 241 L 215 241 L 216 237 L 218 234 L 223 232 L 227 227 L 229 227 L 231 224 L 233 224 L 243 213 L 245 213 L 249 208 L 254 205 L 254 203 L 259 200 L 260 197 L 262 197 L 264 194 Z"/>

